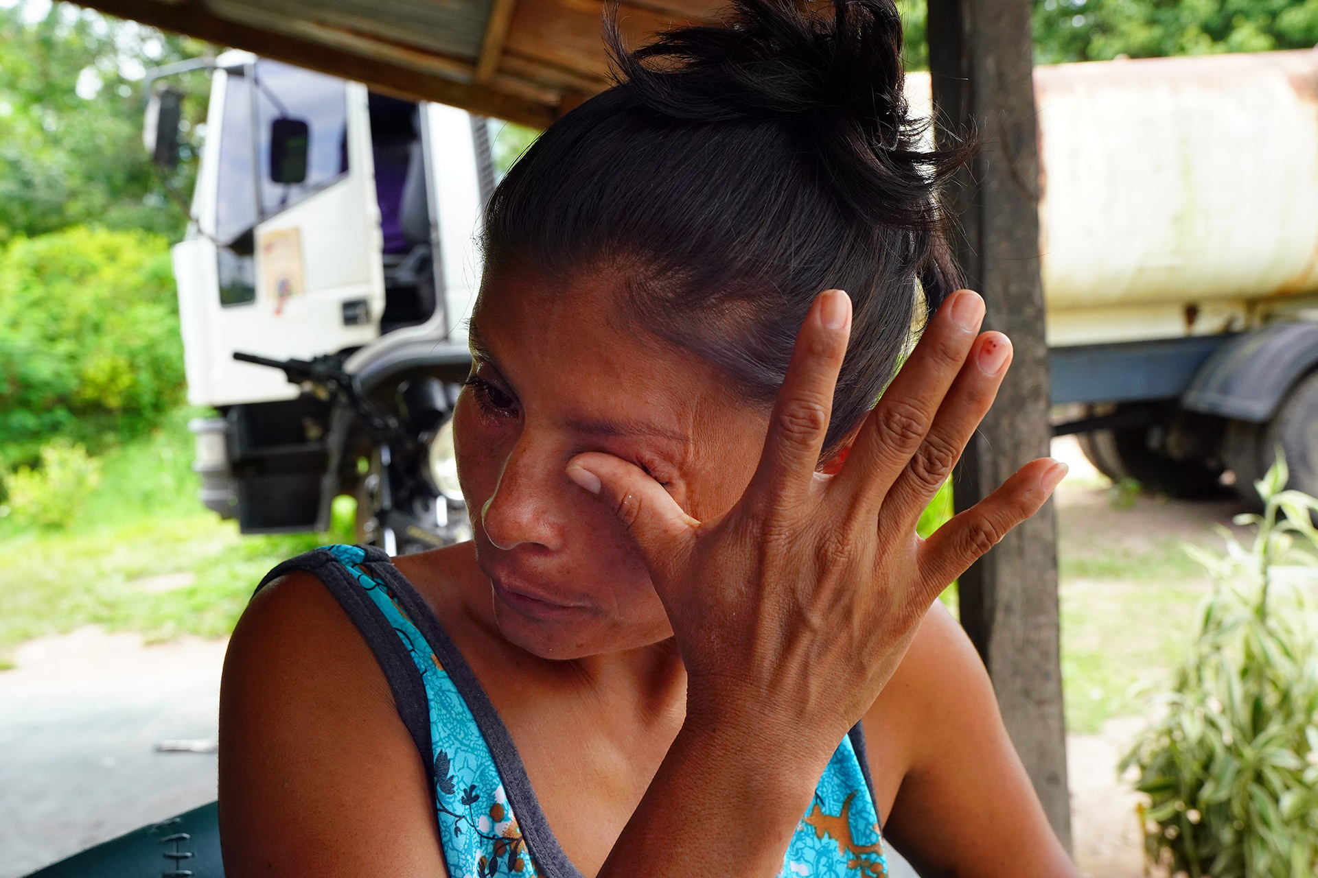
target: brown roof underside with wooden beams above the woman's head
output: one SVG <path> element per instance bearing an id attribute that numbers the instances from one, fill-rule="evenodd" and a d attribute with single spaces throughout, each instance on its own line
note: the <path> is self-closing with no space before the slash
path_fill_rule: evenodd
<path id="1" fill-rule="evenodd" d="M 121 18 L 544 128 L 609 84 L 602 0 L 84 0 Z M 718 0 L 623 0 L 629 43 Z"/>

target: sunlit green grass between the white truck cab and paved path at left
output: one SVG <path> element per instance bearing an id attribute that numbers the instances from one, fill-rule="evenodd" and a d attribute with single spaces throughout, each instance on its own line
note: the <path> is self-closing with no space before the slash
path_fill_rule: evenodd
<path id="1" fill-rule="evenodd" d="M 187 417 L 101 458 L 101 482 L 67 529 L 0 520 L 0 662 L 21 642 L 98 624 L 159 641 L 227 636 L 261 577 L 281 559 L 352 541 L 343 516 L 331 534 L 243 537 L 196 499 Z M 348 519 L 351 521 L 351 517 Z M 153 594 L 136 581 L 191 573 Z"/>

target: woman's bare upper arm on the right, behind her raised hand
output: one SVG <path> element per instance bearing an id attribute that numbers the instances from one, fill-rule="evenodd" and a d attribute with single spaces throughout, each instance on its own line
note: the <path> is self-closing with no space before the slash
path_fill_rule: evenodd
<path id="1" fill-rule="evenodd" d="M 923 875 L 1075 875 L 1007 737 L 970 638 L 934 602 L 883 695 L 865 716 L 871 773 L 907 763 L 883 835 Z"/>

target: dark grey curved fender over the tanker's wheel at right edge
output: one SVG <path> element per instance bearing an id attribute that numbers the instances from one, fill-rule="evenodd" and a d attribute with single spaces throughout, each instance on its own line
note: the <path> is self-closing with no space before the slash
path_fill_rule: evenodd
<path id="1" fill-rule="evenodd" d="M 1244 333 L 1213 351 L 1181 396 L 1181 407 L 1263 423 L 1315 365 L 1315 323 L 1282 323 Z"/>

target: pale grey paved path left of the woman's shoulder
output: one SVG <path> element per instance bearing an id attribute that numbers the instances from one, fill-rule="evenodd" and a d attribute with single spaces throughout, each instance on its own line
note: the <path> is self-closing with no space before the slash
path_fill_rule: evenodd
<path id="1" fill-rule="evenodd" d="M 214 753 L 154 746 L 215 738 L 224 645 L 125 638 L 43 638 L 0 674 L 0 878 L 215 799 Z"/>

